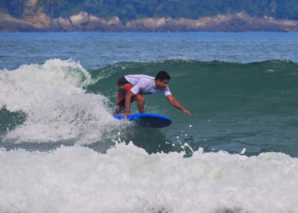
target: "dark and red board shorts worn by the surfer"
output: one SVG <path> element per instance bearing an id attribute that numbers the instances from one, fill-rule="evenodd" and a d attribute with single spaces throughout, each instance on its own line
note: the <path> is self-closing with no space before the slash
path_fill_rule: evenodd
<path id="1" fill-rule="evenodd" d="M 125 107 L 125 95 L 133 87 L 124 77 L 120 78 L 117 81 L 117 93 L 118 93 L 118 102 L 116 105 L 120 107 Z M 141 95 L 140 93 L 131 97 L 130 102 L 136 100 L 137 96 Z"/>

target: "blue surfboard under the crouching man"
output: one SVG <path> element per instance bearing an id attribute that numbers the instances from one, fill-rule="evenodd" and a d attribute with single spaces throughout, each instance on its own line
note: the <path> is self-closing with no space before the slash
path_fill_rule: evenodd
<path id="1" fill-rule="evenodd" d="M 123 115 L 115 115 L 114 118 L 122 120 Z M 138 114 L 128 115 L 126 119 L 128 121 L 137 122 L 139 125 L 153 127 L 153 128 L 170 126 L 172 123 L 172 120 L 166 116 L 158 115 L 158 114 L 148 114 L 148 113 L 138 113 Z"/>

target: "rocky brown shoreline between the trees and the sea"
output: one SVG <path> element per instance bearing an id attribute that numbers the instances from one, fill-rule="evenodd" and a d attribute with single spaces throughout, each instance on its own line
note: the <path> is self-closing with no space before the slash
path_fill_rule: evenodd
<path id="1" fill-rule="evenodd" d="M 44 13 L 17 19 L 0 13 L 0 32 L 298 32 L 298 21 L 252 17 L 244 12 L 199 19 L 145 18 L 122 23 L 86 12 L 51 20 Z"/>

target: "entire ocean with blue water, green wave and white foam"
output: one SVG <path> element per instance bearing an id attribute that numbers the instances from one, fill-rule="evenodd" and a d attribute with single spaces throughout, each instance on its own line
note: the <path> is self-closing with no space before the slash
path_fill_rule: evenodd
<path id="1" fill-rule="evenodd" d="M 193 115 L 114 119 L 159 70 Z M 297 33 L 0 33 L 0 212 L 297 212 L 297 83 Z"/>

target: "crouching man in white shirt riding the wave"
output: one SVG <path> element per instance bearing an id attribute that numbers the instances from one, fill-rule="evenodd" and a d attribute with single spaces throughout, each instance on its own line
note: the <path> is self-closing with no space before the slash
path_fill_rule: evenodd
<path id="1" fill-rule="evenodd" d="M 127 75 L 117 81 L 118 102 L 119 107 L 115 109 L 114 114 L 120 114 L 124 110 L 124 117 L 130 115 L 130 104 L 137 101 L 140 113 L 144 113 L 145 97 L 143 95 L 154 94 L 158 92 L 164 93 L 173 107 L 181 110 L 183 113 L 192 115 L 188 110 L 173 97 L 168 87 L 171 77 L 164 70 L 160 71 L 156 77 L 146 75 Z"/>

